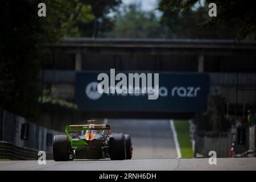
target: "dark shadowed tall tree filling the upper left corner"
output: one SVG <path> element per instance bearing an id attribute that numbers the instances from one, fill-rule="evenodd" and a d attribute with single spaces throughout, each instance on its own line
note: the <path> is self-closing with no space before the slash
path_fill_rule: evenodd
<path id="1" fill-rule="evenodd" d="M 46 3 L 46 17 L 38 16 L 41 2 Z M 64 34 L 78 34 L 76 24 L 93 17 L 90 6 L 78 0 L 2 0 L 0 107 L 24 117 L 36 116 L 39 72 L 48 53 L 46 44 L 55 43 Z"/>

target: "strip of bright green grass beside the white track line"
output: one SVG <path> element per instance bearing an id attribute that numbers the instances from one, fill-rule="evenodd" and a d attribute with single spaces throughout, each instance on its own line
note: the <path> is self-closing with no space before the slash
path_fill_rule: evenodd
<path id="1" fill-rule="evenodd" d="M 189 123 L 187 120 L 174 121 L 181 158 L 193 158 L 192 143 L 189 140 Z"/>

